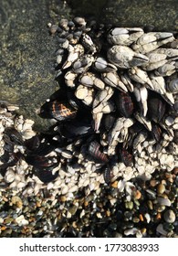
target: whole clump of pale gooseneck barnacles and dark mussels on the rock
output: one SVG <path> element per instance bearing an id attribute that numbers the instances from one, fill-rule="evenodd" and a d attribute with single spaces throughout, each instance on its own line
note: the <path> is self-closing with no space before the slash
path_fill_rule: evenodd
<path id="1" fill-rule="evenodd" d="M 51 119 L 50 129 L 28 140 L 25 154 L 43 182 L 58 176 L 59 164 L 94 161 L 110 183 L 110 165 L 134 167 L 145 140 L 166 148 L 166 134 L 177 145 L 176 34 L 98 25 L 82 17 L 48 27 L 58 37 L 60 89 L 39 110 Z"/>

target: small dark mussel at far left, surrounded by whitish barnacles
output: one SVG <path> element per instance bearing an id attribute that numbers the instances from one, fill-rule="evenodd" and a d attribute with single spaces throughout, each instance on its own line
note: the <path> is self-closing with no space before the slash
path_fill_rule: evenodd
<path id="1" fill-rule="evenodd" d="M 6 144 L 24 144 L 21 133 L 13 127 L 5 128 L 4 140 Z"/>

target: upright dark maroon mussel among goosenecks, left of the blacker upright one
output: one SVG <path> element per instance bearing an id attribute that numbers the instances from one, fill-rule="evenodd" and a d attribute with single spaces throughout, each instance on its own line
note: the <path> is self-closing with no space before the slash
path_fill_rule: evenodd
<path id="1" fill-rule="evenodd" d="M 134 104 L 129 92 L 116 91 L 115 103 L 120 115 L 130 117 L 133 113 Z"/>

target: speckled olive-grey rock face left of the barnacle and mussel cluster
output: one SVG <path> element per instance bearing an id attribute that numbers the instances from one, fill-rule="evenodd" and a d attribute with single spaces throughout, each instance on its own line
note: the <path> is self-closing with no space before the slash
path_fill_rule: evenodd
<path id="1" fill-rule="evenodd" d="M 19 112 L 35 120 L 40 130 L 48 122 L 36 110 L 58 90 L 54 80 L 58 42 L 47 29 L 53 5 L 47 0 L 2 0 L 0 6 L 0 100 L 20 105 Z M 58 15 L 68 13 L 62 1 L 56 5 Z"/>

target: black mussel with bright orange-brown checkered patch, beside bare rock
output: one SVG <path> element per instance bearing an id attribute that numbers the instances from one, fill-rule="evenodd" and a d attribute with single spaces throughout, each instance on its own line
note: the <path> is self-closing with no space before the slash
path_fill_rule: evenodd
<path id="1" fill-rule="evenodd" d="M 74 118 L 77 114 L 68 102 L 65 101 L 47 101 L 40 109 L 40 116 L 43 118 L 54 118 L 58 121 L 67 121 Z"/>

